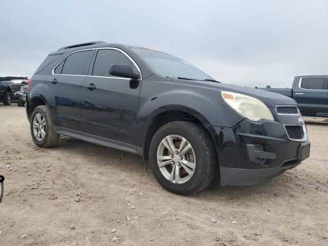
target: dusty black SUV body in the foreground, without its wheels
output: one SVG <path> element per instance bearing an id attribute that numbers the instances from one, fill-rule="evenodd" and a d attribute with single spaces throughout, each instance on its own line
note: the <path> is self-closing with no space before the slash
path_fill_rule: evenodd
<path id="1" fill-rule="evenodd" d="M 103 50 L 124 54 L 139 77 L 95 75 L 95 60 Z M 63 74 L 61 63 L 81 51 L 88 51 L 85 70 Z M 50 53 L 33 75 L 27 115 L 31 118 L 38 105 L 46 105 L 58 134 L 136 153 L 146 160 L 152 154 L 152 136 L 160 127 L 171 121 L 193 122 L 209 134 L 215 146 L 223 186 L 256 185 L 309 156 L 308 134 L 294 99 L 218 83 L 206 74 L 198 77 L 197 71 L 193 76 L 182 71 L 186 66 L 180 63 L 192 66 L 135 46 L 91 43 L 64 47 Z M 271 116 L 245 117 L 234 109 L 236 101 L 243 105 L 237 97 L 247 107 L 248 100 L 256 100 Z M 283 107 L 293 113 L 281 113 Z"/>

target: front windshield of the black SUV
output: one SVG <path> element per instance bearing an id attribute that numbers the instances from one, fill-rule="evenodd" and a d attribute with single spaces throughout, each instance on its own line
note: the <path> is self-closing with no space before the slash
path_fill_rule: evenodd
<path id="1" fill-rule="evenodd" d="M 135 48 L 134 52 L 160 76 L 198 80 L 213 79 L 187 61 L 173 55 L 143 48 Z"/>

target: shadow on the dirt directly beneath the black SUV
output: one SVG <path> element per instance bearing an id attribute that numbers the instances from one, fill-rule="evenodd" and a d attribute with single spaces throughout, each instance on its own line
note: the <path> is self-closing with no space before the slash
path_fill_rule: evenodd
<path id="1" fill-rule="evenodd" d="M 113 164 L 121 164 L 124 166 L 122 172 L 128 172 L 127 176 L 144 175 L 147 172 L 147 177 L 150 178 L 150 182 L 155 182 L 155 189 L 160 189 L 163 192 L 167 192 L 157 183 L 153 177 L 150 163 L 142 160 L 142 157 L 112 148 L 98 146 L 84 142 L 81 140 L 72 139 L 69 137 L 60 137 L 58 145 L 53 147 L 54 150 L 59 150 L 61 153 L 65 152 L 66 155 L 81 155 L 84 159 L 88 159 L 89 164 L 94 163 L 95 166 L 109 167 Z M 129 173 L 131 172 L 131 173 Z M 292 172 L 292 171 L 288 171 Z M 250 196 L 261 197 L 263 194 L 272 194 L 275 196 L 277 190 L 285 190 L 286 182 L 288 186 L 297 186 L 296 180 L 290 180 L 283 174 L 275 177 L 271 180 L 260 183 L 254 187 L 222 187 L 217 177 L 211 185 L 204 191 L 190 195 L 187 197 L 193 199 L 204 199 L 210 201 L 223 200 L 240 200 L 249 198 Z M 154 187 L 154 186 L 153 186 Z M 158 191 L 157 191 L 158 192 Z M 172 194 L 172 193 L 170 193 Z"/>

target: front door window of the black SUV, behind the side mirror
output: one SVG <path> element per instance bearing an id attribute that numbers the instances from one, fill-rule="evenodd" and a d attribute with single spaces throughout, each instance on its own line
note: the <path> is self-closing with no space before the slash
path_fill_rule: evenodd
<path id="1" fill-rule="evenodd" d="M 104 77 L 117 77 L 109 74 L 112 64 L 124 64 L 134 67 L 132 61 L 122 52 L 117 50 L 98 50 L 94 62 L 92 75 Z"/>

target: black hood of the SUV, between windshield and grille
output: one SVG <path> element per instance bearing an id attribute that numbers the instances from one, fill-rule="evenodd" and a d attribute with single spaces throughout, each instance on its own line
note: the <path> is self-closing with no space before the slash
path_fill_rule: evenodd
<path id="1" fill-rule="evenodd" d="M 182 80 L 173 79 L 175 83 L 183 83 L 199 87 L 208 87 L 219 91 L 230 91 L 255 97 L 261 100 L 265 105 L 275 108 L 277 105 L 297 105 L 296 101 L 288 96 L 280 95 L 278 93 L 264 91 L 260 89 L 235 86 L 223 83 L 216 83 L 211 81 L 197 81 L 197 80 Z"/>

